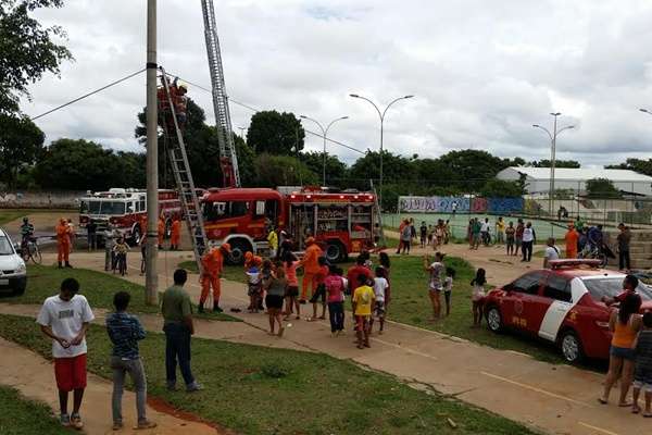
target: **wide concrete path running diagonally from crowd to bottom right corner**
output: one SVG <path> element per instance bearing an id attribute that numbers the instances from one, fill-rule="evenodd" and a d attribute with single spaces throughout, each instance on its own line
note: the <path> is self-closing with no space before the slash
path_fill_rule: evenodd
<path id="1" fill-rule="evenodd" d="M 161 288 L 170 283 L 178 261 L 188 256 L 184 252 L 162 254 L 159 264 Z M 79 253 L 73 261 L 77 266 L 96 270 L 103 264 L 100 254 Z M 131 256 L 129 266 L 139 268 L 137 256 Z M 137 273 L 128 275 L 127 279 L 143 281 Z M 198 298 L 197 275 L 190 275 L 187 287 L 191 296 Z M 221 304 L 226 312 L 231 307 L 242 309 L 247 302 L 243 284 L 223 281 Z M 267 327 L 263 314 L 234 315 L 256 328 Z M 347 322 L 349 326 L 349 318 Z M 259 334 L 265 333 L 260 331 Z M 372 348 L 364 350 L 351 344 L 351 335 L 330 338 L 328 324 L 323 321 L 293 321 L 283 340 L 286 339 L 431 386 L 550 434 L 641 434 L 652 430 L 652 421 L 631 415 L 628 409 L 598 403 L 604 377 L 601 374 L 536 361 L 517 352 L 497 350 L 409 325 L 390 323 L 386 334 L 375 335 Z"/>

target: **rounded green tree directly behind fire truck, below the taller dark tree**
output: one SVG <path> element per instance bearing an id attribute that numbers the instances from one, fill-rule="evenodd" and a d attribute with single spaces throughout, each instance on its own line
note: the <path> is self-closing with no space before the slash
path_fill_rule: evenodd
<path id="1" fill-rule="evenodd" d="M 256 186 L 318 185 L 317 175 L 299 159 L 290 156 L 260 154 L 254 162 Z"/>

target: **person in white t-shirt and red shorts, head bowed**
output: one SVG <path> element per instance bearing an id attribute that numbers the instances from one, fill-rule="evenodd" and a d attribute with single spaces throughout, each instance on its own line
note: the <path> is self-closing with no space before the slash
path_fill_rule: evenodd
<path id="1" fill-rule="evenodd" d="M 86 331 L 95 319 L 88 300 L 79 291 L 75 278 L 65 278 L 61 291 L 43 302 L 36 323 L 41 332 L 52 338 L 54 376 L 59 388 L 61 424 L 77 430 L 84 427 L 79 417 L 82 398 L 86 388 Z M 68 393 L 74 391 L 73 413 L 67 412 Z"/>

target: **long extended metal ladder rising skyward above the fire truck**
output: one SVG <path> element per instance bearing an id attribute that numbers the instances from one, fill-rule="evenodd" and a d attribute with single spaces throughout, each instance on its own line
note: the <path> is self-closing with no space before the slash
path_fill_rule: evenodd
<path id="1" fill-rule="evenodd" d="M 224 187 L 240 187 L 240 171 L 238 170 L 238 157 L 236 154 L 230 113 L 228 110 L 228 96 L 226 95 L 224 83 L 224 69 L 222 67 L 222 54 L 220 39 L 217 38 L 213 0 L 202 0 L 201 10 L 204 18 L 204 36 L 206 39 L 211 85 L 213 87 L 213 110 L 215 111 L 217 144 L 220 145 L 220 165 L 222 166 Z"/>

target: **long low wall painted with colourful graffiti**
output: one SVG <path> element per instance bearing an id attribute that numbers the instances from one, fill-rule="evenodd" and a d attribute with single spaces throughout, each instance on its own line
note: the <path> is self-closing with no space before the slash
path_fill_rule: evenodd
<path id="1" fill-rule="evenodd" d="M 517 198 L 468 197 L 399 197 L 399 211 L 413 213 L 493 213 L 509 214 L 524 210 L 524 200 Z"/>

